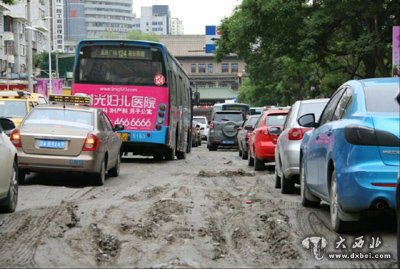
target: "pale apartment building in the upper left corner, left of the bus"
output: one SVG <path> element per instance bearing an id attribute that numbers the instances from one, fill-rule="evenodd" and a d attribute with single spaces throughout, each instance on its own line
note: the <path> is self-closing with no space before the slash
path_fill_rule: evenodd
<path id="1" fill-rule="evenodd" d="M 33 54 L 48 51 L 48 14 L 48 5 L 42 0 L 0 3 L 0 84 L 27 84 L 28 50 Z M 32 40 L 31 46 L 28 40 Z"/>

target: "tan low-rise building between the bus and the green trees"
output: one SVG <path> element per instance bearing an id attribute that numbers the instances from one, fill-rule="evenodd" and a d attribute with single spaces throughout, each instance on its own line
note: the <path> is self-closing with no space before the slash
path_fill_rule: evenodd
<path id="1" fill-rule="evenodd" d="M 245 63 L 229 55 L 220 63 L 213 53 L 205 52 L 205 35 L 161 36 L 172 55 L 188 74 L 193 89 L 200 92 L 200 104 L 212 105 L 235 99 L 245 76 Z"/>

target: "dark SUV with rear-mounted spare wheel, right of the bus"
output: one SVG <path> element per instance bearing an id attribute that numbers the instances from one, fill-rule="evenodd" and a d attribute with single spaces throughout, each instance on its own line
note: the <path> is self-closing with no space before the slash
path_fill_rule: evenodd
<path id="1" fill-rule="evenodd" d="M 245 119 L 241 111 L 216 111 L 208 130 L 207 148 L 212 151 L 217 150 L 218 146 L 237 147 L 238 128 Z"/>

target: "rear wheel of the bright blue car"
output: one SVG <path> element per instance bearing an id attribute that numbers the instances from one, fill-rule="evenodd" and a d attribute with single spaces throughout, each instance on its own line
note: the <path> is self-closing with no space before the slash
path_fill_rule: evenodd
<path id="1" fill-rule="evenodd" d="M 337 192 L 337 181 L 336 172 L 333 170 L 331 176 L 331 186 L 330 186 L 330 215 L 331 215 L 331 225 L 332 230 L 337 233 L 343 233 L 349 228 L 349 222 L 343 221 L 340 217 L 340 204 L 339 195 Z"/>

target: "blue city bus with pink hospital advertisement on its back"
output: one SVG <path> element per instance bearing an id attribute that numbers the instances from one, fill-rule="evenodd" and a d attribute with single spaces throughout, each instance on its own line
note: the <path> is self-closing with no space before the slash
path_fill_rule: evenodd
<path id="1" fill-rule="evenodd" d="M 185 159 L 191 149 L 192 92 L 187 74 L 161 43 L 82 40 L 73 95 L 89 95 L 119 131 L 123 156 Z"/>

